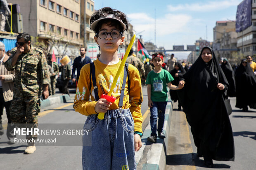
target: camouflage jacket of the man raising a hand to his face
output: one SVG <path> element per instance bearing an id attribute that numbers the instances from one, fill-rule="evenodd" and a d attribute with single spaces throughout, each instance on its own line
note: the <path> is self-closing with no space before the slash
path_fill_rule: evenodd
<path id="1" fill-rule="evenodd" d="M 12 55 L 5 62 L 5 68 L 14 70 L 14 97 L 23 95 L 40 95 L 43 84 L 50 84 L 50 74 L 43 51 L 31 45 L 28 53 L 19 55 L 17 62 L 12 66 L 12 58 L 17 48 L 12 49 Z"/>

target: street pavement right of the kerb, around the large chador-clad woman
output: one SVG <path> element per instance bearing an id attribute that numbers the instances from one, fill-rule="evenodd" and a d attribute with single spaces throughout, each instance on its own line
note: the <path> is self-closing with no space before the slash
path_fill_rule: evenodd
<path id="1" fill-rule="evenodd" d="M 214 161 L 213 168 L 222 170 L 255 170 L 256 165 L 256 109 L 242 112 L 235 107 L 236 98 L 230 98 L 232 114 L 230 121 L 235 142 L 235 161 Z M 174 103 L 166 155 L 166 170 L 205 170 L 203 158 L 196 156 L 194 145 L 184 112 Z"/>

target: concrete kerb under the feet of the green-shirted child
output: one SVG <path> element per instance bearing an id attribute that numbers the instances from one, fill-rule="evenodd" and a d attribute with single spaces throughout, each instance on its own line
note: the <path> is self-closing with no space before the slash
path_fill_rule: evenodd
<path id="1" fill-rule="evenodd" d="M 157 138 L 156 143 L 147 142 L 147 137 L 151 134 L 150 121 L 143 132 L 142 154 L 135 154 L 137 170 L 165 170 L 166 166 L 166 150 L 168 147 L 168 137 L 171 127 L 171 115 L 173 112 L 172 102 L 168 101 L 166 105 L 164 134 L 166 138 Z M 144 146 L 143 146 L 144 145 Z"/>

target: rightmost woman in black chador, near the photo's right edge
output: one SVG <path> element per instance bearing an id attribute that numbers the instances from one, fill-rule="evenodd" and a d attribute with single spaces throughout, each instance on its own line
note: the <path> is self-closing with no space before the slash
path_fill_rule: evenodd
<path id="1" fill-rule="evenodd" d="M 237 103 L 235 107 L 248 111 L 248 105 L 256 109 L 256 78 L 246 59 L 243 59 L 235 72 Z"/>

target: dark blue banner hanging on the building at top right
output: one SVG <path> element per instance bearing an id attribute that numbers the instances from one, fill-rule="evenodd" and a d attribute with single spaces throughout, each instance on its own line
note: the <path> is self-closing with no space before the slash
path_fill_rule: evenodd
<path id="1" fill-rule="evenodd" d="M 244 0 L 237 6 L 235 29 L 238 33 L 249 26 L 251 26 L 251 0 Z"/>

